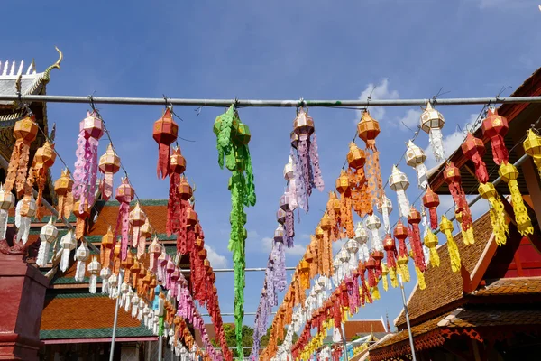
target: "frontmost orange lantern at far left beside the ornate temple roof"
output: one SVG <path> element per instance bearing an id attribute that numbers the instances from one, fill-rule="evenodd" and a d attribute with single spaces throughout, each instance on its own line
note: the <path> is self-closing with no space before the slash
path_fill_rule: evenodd
<path id="1" fill-rule="evenodd" d="M 4 188 L 6 192 L 11 193 L 15 186 L 18 197 L 23 195 L 30 158 L 30 144 L 36 139 L 37 134 L 38 125 L 34 116 L 27 116 L 15 123 L 14 150 L 5 175 Z"/>

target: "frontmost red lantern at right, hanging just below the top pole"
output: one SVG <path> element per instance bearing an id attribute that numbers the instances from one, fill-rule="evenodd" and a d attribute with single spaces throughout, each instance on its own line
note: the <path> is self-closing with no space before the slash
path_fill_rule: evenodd
<path id="1" fill-rule="evenodd" d="M 498 165 L 502 162 L 509 161 L 509 153 L 505 147 L 503 137 L 509 131 L 509 125 L 505 116 L 500 116 L 498 110 L 494 107 L 489 107 L 487 117 L 483 119 L 482 134 L 491 140 L 492 157 Z"/>

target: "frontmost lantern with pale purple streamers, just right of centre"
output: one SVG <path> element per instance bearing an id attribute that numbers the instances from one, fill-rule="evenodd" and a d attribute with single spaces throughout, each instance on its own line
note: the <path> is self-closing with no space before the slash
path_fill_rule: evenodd
<path id="1" fill-rule="evenodd" d="M 303 107 L 298 109 L 297 116 L 293 120 L 293 133 L 291 135 L 295 141 L 291 143 L 293 163 L 296 165 L 296 194 L 298 194 L 299 206 L 308 211 L 308 197 L 312 194 L 312 189 L 316 188 L 323 191 L 324 182 L 321 178 L 319 168 L 319 154 L 317 153 L 317 137 L 314 119 L 308 116 Z M 305 194 L 306 193 L 306 194 Z"/>

